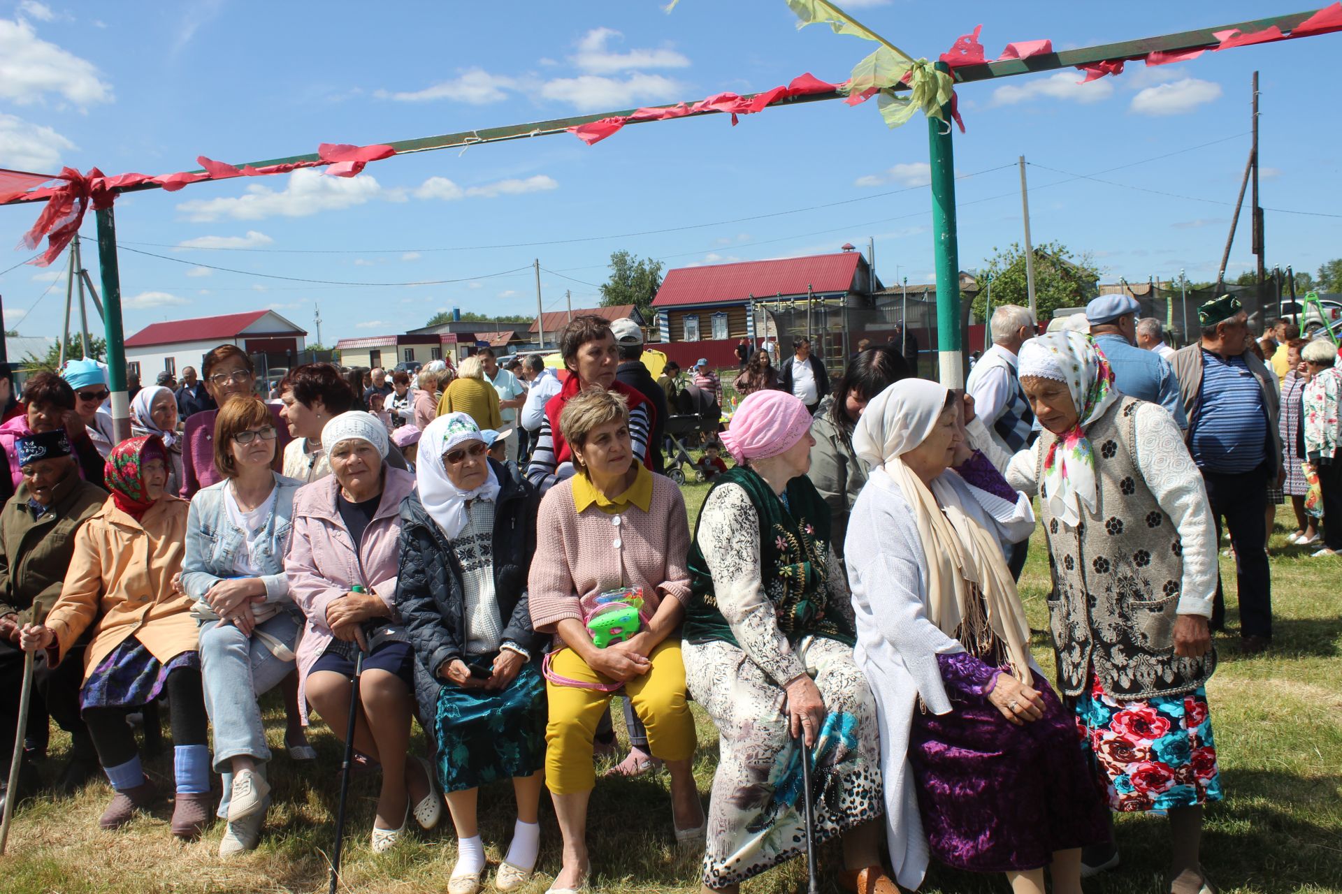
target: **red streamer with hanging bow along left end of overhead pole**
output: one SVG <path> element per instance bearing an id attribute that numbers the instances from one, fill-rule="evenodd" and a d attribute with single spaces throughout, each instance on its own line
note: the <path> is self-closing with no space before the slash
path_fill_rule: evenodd
<path id="1" fill-rule="evenodd" d="M 97 168 L 90 168 L 87 174 L 81 174 L 74 168 L 64 168 L 55 177 L 36 180 L 30 176 L 27 178 L 28 184 L 62 181 L 60 184 L 39 189 L 0 193 L 0 204 L 16 200 L 47 200 L 47 206 L 42 209 L 32 229 L 23 235 L 20 243 L 31 251 L 42 244 L 43 237 L 46 237 L 47 251 L 30 263 L 36 267 L 47 267 L 60 256 L 60 252 L 66 249 L 70 240 L 79 232 L 79 225 L 83 224 L 83 217 L 89 206 L 93 205 L 94 210 L 110 208 L 117 198 L 118 189 L 154 184 L 168 192 L 176 192 L 188 184 L 197 184 L 203 180 L 286 174 L 299 168 L 319 168 L 322 165 L 329 165 L 326 173 L 334 177 L 353 177 L 364 170 L 368 162 L 380 161 L 395 154 L 396 150 L 391 146 L 322 143 L 317 150 L 317 161 L 286 162 L 282 165 L 264 165 L 262 168 L 252 168 L 251 165 L 236 168 L 227 162 L 205 158 L 204 155 L 196 158 L 200 166 L 205 169 L 204 172 L 177 172 L 160 177 L 150 177 L 149 174 L 118 174 L 107 177 Z M 5 177 L 5 185 L 11 185 L 17 180 L 17 177 Z"/>

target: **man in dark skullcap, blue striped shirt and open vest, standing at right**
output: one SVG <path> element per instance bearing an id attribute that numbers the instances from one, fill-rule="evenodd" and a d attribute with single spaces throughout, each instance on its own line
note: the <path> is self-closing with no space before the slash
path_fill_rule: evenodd
<path id="1" fill-rule="evenodd" d="M 1235 547 L 1240 603 L 1240 643 L 1245 653 L 1272 643 L 1272 584 L 1267 563 L 1267 488 L 1280 487 L 1280 393 L 1263 361 L 1248 350 L 1248 315 L 1239 299 L 1223 295 L 1197 308 L 1202 338 L 1174 355 L 1185 440 L 1202 472 L 1221 536 L 1221 517 Z M 1225 626 L 1217 576 L 1212 630 Z"/>

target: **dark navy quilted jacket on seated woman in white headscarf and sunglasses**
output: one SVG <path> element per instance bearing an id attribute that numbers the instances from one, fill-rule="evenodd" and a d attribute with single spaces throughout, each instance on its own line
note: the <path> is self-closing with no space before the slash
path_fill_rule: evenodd
<path id="1" fill-rule="evenodd" d="M 535 552 L 535 491 L 511 469 L 490 460 L 501 491 L 494 513 L 494 592 L 505 619 L 503 642 L 538 657 L 548 637 L 531 629 L 526 576 Z M 415 697 L 420 716 L 432 718 L 437 669 L 462 657 L 466 594 L 460 566 L 447 547 L 442 528 L 424 509 L 417 493 L 401 501 L 401 559 L 396 582 L 396 609 L 415 646 Z M 425 725 L 425 730 L 432 722 Z"/>

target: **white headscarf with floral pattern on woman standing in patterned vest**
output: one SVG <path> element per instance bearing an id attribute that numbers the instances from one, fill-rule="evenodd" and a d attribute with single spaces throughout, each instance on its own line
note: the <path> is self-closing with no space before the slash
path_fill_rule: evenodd
<path id="1" fill-rule="evenodd" d="M 1020 377 L 1055 379 L 1067 385 L 1076 407 L 1076 425 L 1063 432 L 1044 456 L 1043 485 L 1049 511 L 1064 524 L 1076 525 L 1082 504 L 1096 504 L 1095 452 L 1086 426 L 1104 414 L 1119 391 L 1114 370 L 1088 335 L 1049 332 L 1020 347 Z"/>

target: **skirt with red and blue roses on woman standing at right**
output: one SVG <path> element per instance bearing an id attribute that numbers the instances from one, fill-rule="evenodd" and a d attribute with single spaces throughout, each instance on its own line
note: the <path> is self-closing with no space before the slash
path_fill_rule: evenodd
<path id="1" fill-rule="evenodd" d="M 1204 686 L 1115 701 L 1092 672 L 1090 690 L 1076 700 L 1076 724 L 1114 810 L 1166 811 L 1221 800 Z"/>

